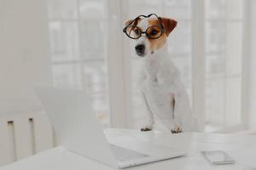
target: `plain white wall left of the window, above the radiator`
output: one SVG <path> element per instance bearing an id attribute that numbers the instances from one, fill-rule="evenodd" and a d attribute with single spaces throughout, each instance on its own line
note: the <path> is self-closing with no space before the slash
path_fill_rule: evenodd
<path id="1" fill-rule="evenodd" d="M 0 0 L 0 114 L 41 108 L 34 82 L 51 82 L 44 0 Z"/>

